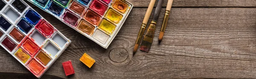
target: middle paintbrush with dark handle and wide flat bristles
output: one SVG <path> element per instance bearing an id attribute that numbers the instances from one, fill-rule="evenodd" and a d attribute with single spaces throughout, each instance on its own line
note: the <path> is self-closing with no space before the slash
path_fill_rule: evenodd
<path id="1" fill-rule="evenodd" d="M 148 52 L 152 45 L 153 38 L 154 38 L 154 31 L 156 29 L 157 20 L 158 20 L 162 5 L 163 5 L 163 0 L 158 0 L 157 7 L 154 11 L 153 18 L 151 20 L 151 23 L 148 27 L 148 30 L 147 30 L 145 36 L 144 36 L 144 39 L 141 43 L 141 46 L 140 46 L 141 51 Z"/>

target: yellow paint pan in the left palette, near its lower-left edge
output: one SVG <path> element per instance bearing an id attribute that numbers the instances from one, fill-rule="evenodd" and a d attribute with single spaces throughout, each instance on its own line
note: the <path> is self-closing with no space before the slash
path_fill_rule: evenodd
<path id="1" fill-rule="evenodd" d="M 19 58 L 23 63 L 29 60 L 30 56 L 26 54 L 21 48 L 15 53 L 15 56 Z"/>

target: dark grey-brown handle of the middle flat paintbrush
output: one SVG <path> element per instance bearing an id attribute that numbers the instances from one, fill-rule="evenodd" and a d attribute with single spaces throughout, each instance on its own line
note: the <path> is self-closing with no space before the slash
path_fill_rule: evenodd
<path id="1" fill-rule="evenodd" d="M 159 17 L 159 14 L 160 14 L 162 5 L 163 5 L 163 0 L 158 0 L 158 2 L 157 2 L 157 7 L 156 7 L 156 9 L 155 9 L 155 11 L 154 11 L 154 15 L 153 15 L 152 20 L 154 20 L 154 21 L 157 21 L 157 20 L 158 20 L 158 17 Z"/>

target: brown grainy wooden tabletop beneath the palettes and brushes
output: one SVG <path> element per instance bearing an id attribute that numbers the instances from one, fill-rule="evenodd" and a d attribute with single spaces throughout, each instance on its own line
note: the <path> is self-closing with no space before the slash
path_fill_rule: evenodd
<path id="1" fill-rule="evenodd" d="M 108 49 L 34 7 L 72 41 L 41 79 L 256 78 L 256 0 L 174 0 L 158 45 L 165 0 L 150 52 L 134 57 L 150 0 L 128 1 L 134 8 Z M 92 68 L 79 61 L 84 52 L 96 60 Z M 68 60 L 76 73 L 67 77 L 61 63 Z M 0 62 L 0 79 L 35 78 L 3 48 Z"/>

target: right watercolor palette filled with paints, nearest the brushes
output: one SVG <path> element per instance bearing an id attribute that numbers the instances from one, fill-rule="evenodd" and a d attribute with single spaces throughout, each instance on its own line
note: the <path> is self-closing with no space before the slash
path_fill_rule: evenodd
<path id="1" fill-rule="evenodd" d="M 126 0 L 29 0 L 103 48 L 108 48 L 133 5 Z"/>

